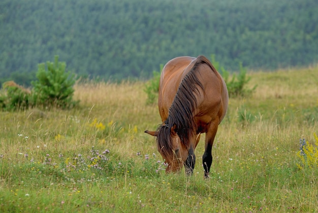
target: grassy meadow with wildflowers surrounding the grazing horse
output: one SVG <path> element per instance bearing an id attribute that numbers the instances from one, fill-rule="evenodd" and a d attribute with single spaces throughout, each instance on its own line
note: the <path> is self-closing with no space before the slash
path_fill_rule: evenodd
<path id="1" fill-rule="evenodd" d="M 297 155 L 318 134 L 318 67 L 248 75 L 258 87 L 230 99 L 209 180 L 204 136 L 193 176 L 165 174 L 144 82 L 76 84 L 77 109 L 0 112 L 0 212 L 318 211 L 318 167 Z"/>

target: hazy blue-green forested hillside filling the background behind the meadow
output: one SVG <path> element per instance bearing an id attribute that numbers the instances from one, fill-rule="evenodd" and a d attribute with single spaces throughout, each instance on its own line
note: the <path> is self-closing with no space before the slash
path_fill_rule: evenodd
<path id="1" fill-rule="evenodd" d="M 39 63 L 77 76 L 148 79 L 178 56 L 227 70 L 318 62 L 316 0 L 2 0 L 0 83 L 29 86 Z"/>

